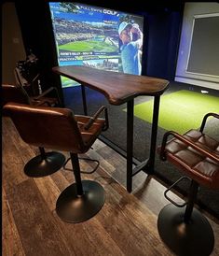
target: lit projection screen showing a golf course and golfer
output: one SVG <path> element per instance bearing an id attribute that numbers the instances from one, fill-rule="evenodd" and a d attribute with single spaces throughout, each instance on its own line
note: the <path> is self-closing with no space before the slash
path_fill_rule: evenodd
<path id="1" fill-rule="evenodd" d="M 135 30 L 142 36 L 143 41 L 142 16 L 73 2 L 51 2 L 49 8 L 60 66 L 86 65 L 107 71 L 130 73 L 129 70 L 125 71 L 122 64 L 123 42 L 120 33 L 132 26 L 137 27 Z M 138 38 L 135 38 L 135 31 L 132 31 L 131 41 L 134 42 Z M 129 54 L 127 52 L 126 55 Z M 125 57 L 128 60 L 129 56 Z M 138 58 L 141 61 L 142 55 Z M 62 77 L 63 88 L 73 85 L 73 80 Z"/>

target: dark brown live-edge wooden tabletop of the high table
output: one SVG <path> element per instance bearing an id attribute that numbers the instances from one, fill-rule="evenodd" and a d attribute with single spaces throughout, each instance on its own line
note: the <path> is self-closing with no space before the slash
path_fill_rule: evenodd
<path id="1" fill-rule="evenodd" d="M 139 95 L 160 95 L 169 85 L 168 80 L 161 78 L 104 71 L 83 65 L 55 66 L 52 70 L 102 92 L 112 105 L 121 105 Z"/>

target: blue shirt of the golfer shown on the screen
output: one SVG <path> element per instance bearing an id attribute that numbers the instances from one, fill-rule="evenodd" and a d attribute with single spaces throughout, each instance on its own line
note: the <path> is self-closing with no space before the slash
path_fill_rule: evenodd
<path id="1" fill-rule="evenodd" d="M 130 42 L 121 47 L 121 60 L 124 73 L 141 75 L 142 65 L 140 62 L 138 44 L 136 42 Z"/>

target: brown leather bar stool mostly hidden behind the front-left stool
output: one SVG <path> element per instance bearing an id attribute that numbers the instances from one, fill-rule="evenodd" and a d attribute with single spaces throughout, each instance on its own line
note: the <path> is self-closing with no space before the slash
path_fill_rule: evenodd
<path id="1" fill-rule="evenodd" d="M 19 86 L 12 84 L 3 84 L 3 106 L 8 102 L 15 102 L 21 104 L 27 104 L 32 106 L 50 106 L 51 103 L 58 103 L 59 100 L 49 100 L 43 94 L 38 97 L 30 97 L 28 93 Z M 7 113 L 3 108 L 3 115 Z M 28 131 L 27 131 L 28 133 Z M 40 178 L 51 175 L 62 168 L 65 162 L 65 157 L 62 153 L 57 151 L 46 152 L 43 147 L 39 147 L 40 154 L 31 159 L 24 166 L 24 173 L 32 178 Z"/>

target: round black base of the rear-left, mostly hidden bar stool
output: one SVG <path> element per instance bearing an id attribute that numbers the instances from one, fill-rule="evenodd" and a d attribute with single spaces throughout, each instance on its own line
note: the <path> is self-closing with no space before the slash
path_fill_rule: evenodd
<path id="1" fill-rule="evenodd" d="M 51 175 L 62 168 L 65 157 L 59 152 L 47 152 L 46 159 L 38 155 L 24 166 L 24 173 L 32 178 L 40 178 Z"/>

